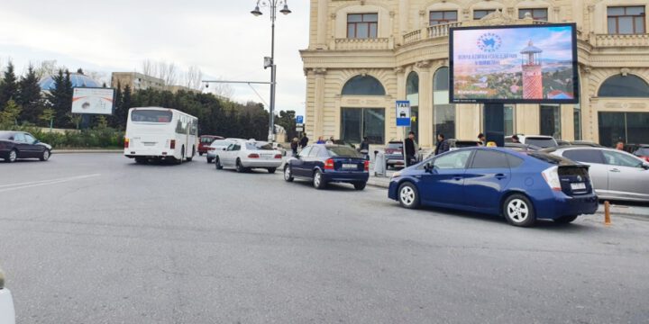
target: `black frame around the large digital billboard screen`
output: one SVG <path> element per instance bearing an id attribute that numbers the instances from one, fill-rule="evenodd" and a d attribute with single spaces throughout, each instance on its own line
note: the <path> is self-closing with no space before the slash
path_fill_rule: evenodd
<path id="1" fill-rule="evenodd" d="M 454 73 L 454 31 L 467 30 L 496 30 L 496 29 L 523 29 L 523 28 L 548 28 L 548 27 L 571 27 L 572 40 L 572 99 L 457 99 L 455 92 Z M 449 103 L 516 103 L 516 104 L 577 104 L 580 103 L 580 77 L 579 77 L 579 53 L 577 52 L 577 24 L 576 23 L 544 23 L 524 25 L 498 25 L 498 26 L 471 26 L 452 27 L 449 29 Z"/>

